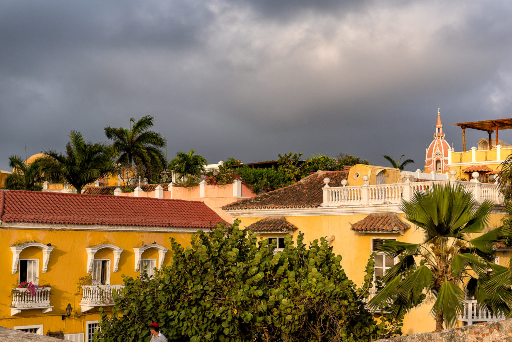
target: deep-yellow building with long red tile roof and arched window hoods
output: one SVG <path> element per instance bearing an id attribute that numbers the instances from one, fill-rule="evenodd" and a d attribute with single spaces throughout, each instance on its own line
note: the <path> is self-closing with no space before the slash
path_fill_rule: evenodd
<path id="1" fill-rule="evenodd" d="M 151 275 L 170 238 L 189 244 L 218 222 L 202 202 L 0 191 L 0 326 L 91 341 L 123 274 Z"/>

